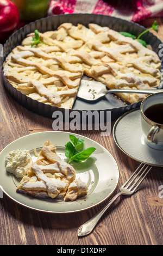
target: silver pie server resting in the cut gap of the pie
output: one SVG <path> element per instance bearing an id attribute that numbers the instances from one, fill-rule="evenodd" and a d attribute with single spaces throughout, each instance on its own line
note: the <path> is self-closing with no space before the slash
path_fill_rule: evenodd
<path id="1" fill-rule="evenodd" d="M 77 99 L 89 103 L 106 99 L 105 96 L 109 93 L 140 93 L 140 94 L 153 94 L 161 93 L 163 89 L 147 89 L 147 90 L 134 90 L 134 89 L 107 89 L 105 84 L 98 81 L 82 80 L 77 94 Z"/>

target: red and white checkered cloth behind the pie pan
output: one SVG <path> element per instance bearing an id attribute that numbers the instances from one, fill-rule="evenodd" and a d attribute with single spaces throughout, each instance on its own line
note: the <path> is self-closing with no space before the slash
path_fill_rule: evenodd
<path id="1" fill-rule="evenodd" d="M 138 22 L 148 17 L 163 16 L 159 0 L 59 0 L 51 1 L 48 16 L 72 13 L 93 13 Z"/>

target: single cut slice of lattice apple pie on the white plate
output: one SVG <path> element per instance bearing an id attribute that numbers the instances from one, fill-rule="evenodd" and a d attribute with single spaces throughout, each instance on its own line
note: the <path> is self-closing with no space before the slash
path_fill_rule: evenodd
<path id="1" fill-rule="evenodd" d="M 74 168 L 57 155 L 55 145 L 47 141 L 16 191 L 36 198 L 67 202 L 86 196 L 87 189 L 85 182 L 76 179 Z"/>

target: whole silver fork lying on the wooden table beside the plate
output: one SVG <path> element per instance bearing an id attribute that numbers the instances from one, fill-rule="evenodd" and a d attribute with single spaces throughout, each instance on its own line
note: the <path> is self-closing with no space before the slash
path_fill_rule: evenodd
<path id="1" fill-rule="evenodd" d="M 104 212 L 117 199 L 117 197 L 121 196 L 122 194 L 127 196 L 133 194 L 151 169 L 152 166 L 150 167 L 146 164 L 141 163 L 140 166 L 135 170 L 135 172 L 130 176 L 130 178 L 122 185 L 122 187 L 120 188 L 120 192 L 117 193 L 116 196 L 112 198 L 110 202 L 106 206 L 104 206 L 104 208 L 102 208 L 101 211 L 98 212 L 98 214 L 93 216 L 89 221 L 85 222 L 79 227 L 78 236 L 90 234 L 93 228 L 95 228 L 99 219 L 104 214 Z"/>

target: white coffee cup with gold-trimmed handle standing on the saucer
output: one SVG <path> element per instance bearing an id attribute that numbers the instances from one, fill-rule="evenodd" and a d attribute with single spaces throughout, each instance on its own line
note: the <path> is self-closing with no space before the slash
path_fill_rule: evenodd
<path id="1" fill-rule="evenodd" d="M 145 114 L 149 107 L 158 104 L 163 106 L 163 93 L 151 94 L 141 102 L 141 127 L 146 144 L 153 149 L 163 150 L 163 124 L 156 123 L 156 121 L 146 117 Z"/>

